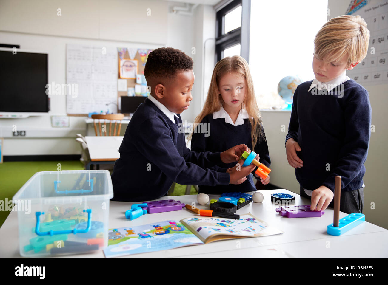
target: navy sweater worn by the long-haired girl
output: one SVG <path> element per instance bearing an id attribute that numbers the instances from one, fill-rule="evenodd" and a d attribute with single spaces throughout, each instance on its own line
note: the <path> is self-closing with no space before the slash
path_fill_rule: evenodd
<path id="1" fill-rule="evenodd" d="M 254 150 L 260 155 L 259 161 L 265 166 L 270 166 L 271 161 L 268 153 L 268 145 L 265 140 L 264 129 L 262 129 L 263 137 L 261 141 L 256 143 L 255 148 L 252 147 L 251 141 L 251 124 L 248 119 L 244 119 L 244 124 L 234 126 L 229 123 L 225 123 L 225 118 L 213 119 L 213 114 L 209 114 L 203 118 L 202 124 L 210 124 L 209 136 L 205 136 L 204 133 L 194 132 L 191 140 L 191 150 L 195 152 L 218 152 L 220 150 L 230 149 L 235 145 L 244 143 L 249 149 Z M 199 130 L 197 126 L 197 130 Z M 237 164 L 232 162 L 229 164 L 221 163 L 218 166 L 213 166 L 211 169 L 216 171 L 225 172 L 228 168 L 234 167 Z M 253 171 L 256 171 L 257 168 Z M 256 191 L 256 186 L 253 182 L 251 175 L 246 176 L 247 180 L 239 185 L 215 185 L 207 186 L 199 185 L 199 193 L 207 194 L 222 194 L 225 192 L 250 192 Z M 260 182 L 259 182 L 260 183 Z"/>

